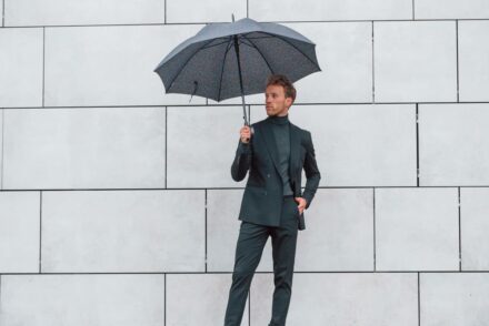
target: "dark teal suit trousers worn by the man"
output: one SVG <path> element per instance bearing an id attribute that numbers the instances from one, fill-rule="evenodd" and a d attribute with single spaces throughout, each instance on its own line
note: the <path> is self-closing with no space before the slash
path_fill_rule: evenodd
<path id="1" fill-rule="evenodd" d="M 283 197 L 279 226 L 241 222 L 224 326 L 241 325 L 251 279 L 260 263 L 261 254 L 269 236 L 271 236 L 272 245 L 275 283 L 269 326 L 286 325 L 292 294 L 298 223 L 299 210 L 293 196 Z"/>

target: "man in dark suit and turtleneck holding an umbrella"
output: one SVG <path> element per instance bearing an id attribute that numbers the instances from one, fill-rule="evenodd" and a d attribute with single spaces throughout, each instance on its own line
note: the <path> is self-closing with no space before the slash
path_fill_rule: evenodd
<path id="1" fill-rule="evenodd" d="M 238 244 L 224 326 L 240 326 L 242 314 L 263 246 L 272 242 L 275 292 L 271 325 L 286 325 L 289 309 L 298 230 L 306 227 L 303 211 L 316 194 L 319 173 L 311 133 L 290 123 L 289 108 L 296 89 L 285 75 L 267 80 L 268 118 L 240 130 L 231 166 L 239 182 L 249 179 L 241 201 Z M 307 182 L 301 193 L 301 173 Z"/>

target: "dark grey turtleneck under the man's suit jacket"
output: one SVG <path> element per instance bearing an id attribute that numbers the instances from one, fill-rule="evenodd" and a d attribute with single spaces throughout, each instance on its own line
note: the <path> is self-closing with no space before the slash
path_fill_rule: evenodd
<path id="1" fill-rule="evenodd" d="M 283 195 L 293 194 L 290 185 L 289 176 L 289 159 L 290 159 L 290 126 L 289 114 L 279 116 L 271 115 L 267 120 L 270 122 L 271 130 L 273 131 L 275 141 L 278 150 L 279 170 L 280 176 L 283 182 Z"/>

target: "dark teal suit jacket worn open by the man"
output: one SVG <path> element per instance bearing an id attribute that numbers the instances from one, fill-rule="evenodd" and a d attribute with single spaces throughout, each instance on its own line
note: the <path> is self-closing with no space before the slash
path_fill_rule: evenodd
<path id="1" fill-rule="evenodd" d="M 289 121 L 290 122 L 290 121 Z M 249 177 L 241 201 L 239 220 L 261 225 L 279 226 L 283 202 L 283 183 L 279 173 L 278 150 L 273 131 L 268 120 L 251 124 L 253 134 L 248 144 L 238 141 L 236 157 L 231 165 L 231 176 L 239 182 Z M 316 162 L 311 133 L 290 122 L 289 176 L 293 195 L 302 196 L 308 208 L 316 194 L 321 174 Z M 306 172 L 306 189 L 301 192 L 302 169 Z M 299 214 L 298 228 L 305 230 L 303 213 Z"/>

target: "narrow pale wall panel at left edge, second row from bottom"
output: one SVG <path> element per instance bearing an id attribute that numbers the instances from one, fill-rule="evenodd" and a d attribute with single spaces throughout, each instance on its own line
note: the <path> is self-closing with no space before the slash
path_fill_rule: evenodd
<path id="1" fill-rule="evenodd" d="M 0 273 L 39 272 L 39 192 L 0 192 Z"/>

